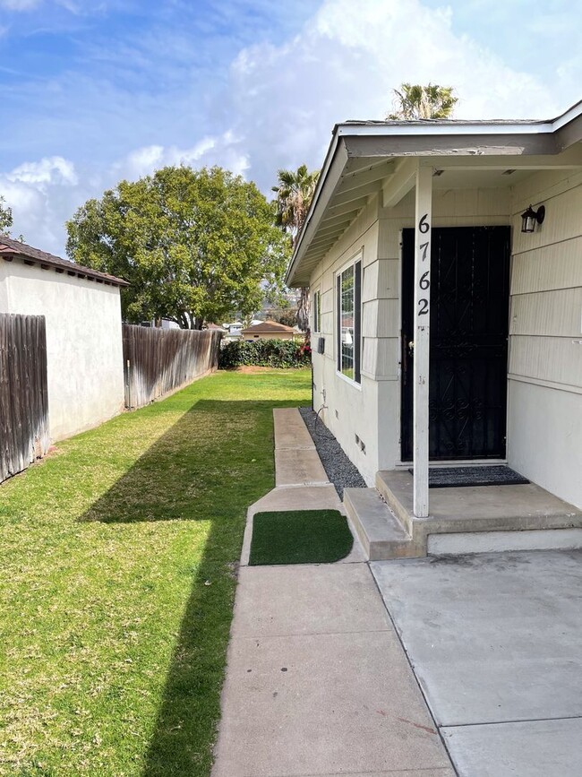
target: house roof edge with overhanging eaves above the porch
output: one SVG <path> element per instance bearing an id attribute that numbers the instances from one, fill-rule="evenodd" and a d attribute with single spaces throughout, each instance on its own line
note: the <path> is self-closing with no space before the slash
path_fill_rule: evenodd
<path id="1" fill-rule="evenodd" d="M 398 204 L 415 186 L 418 158 L 430 160 L 440 176 L 435 188 L 459 188 L 459 177 L 468 170 L 475 181 L 488 176 L 484 186 L 509 186 L 543 167 L 582 168 L 580 141 L 582 100 L 543 121 L 350 120 L 335 125 L 287 270 L 287 286 L 309 285 L 312 270 L 372 196 L 381 194 L 385 208 Z"/>

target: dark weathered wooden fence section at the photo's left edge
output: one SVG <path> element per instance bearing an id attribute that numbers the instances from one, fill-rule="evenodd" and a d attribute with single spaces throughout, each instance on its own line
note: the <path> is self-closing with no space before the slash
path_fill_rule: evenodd
<path id="1" fill-rule="evenodd" d="M 0 482 L 48 445 L 45 317 L 0 313 Z"/>

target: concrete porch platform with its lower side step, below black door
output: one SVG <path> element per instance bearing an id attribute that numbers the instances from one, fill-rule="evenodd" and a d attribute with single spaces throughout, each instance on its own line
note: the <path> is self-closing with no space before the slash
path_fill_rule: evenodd
<path id="1" fill-rule="evenodd" d="M 371 561 L 503 550 L 582 548 L 582 511 L 535 483 L 433 488 L 412 512 L 412 476 L 381 471 L 377 488 L 346 488 L 344 507 Z"/>

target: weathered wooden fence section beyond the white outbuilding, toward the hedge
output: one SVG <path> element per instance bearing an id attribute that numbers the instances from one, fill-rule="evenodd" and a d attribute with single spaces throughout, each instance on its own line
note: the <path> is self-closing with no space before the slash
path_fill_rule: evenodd
<path id="1" fill-rule="evenodd" d="M 124 324 L 125 407 L 141 408 L 216 369 L 220 336 Z"/>

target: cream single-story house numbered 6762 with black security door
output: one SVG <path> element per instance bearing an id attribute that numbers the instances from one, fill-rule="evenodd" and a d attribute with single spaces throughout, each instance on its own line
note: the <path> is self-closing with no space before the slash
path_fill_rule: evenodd
<path id="1" fill-rule="evenodd" d="M 582 102 L 336 125 L 287 284 L 311 289 L 314 410 L 370 486 L 348 512 L 386 500 L 388 555 L 439 531 L 582 542 Z M 429 464 L 492 463 L 531 483 L 429 489 Z"/>

